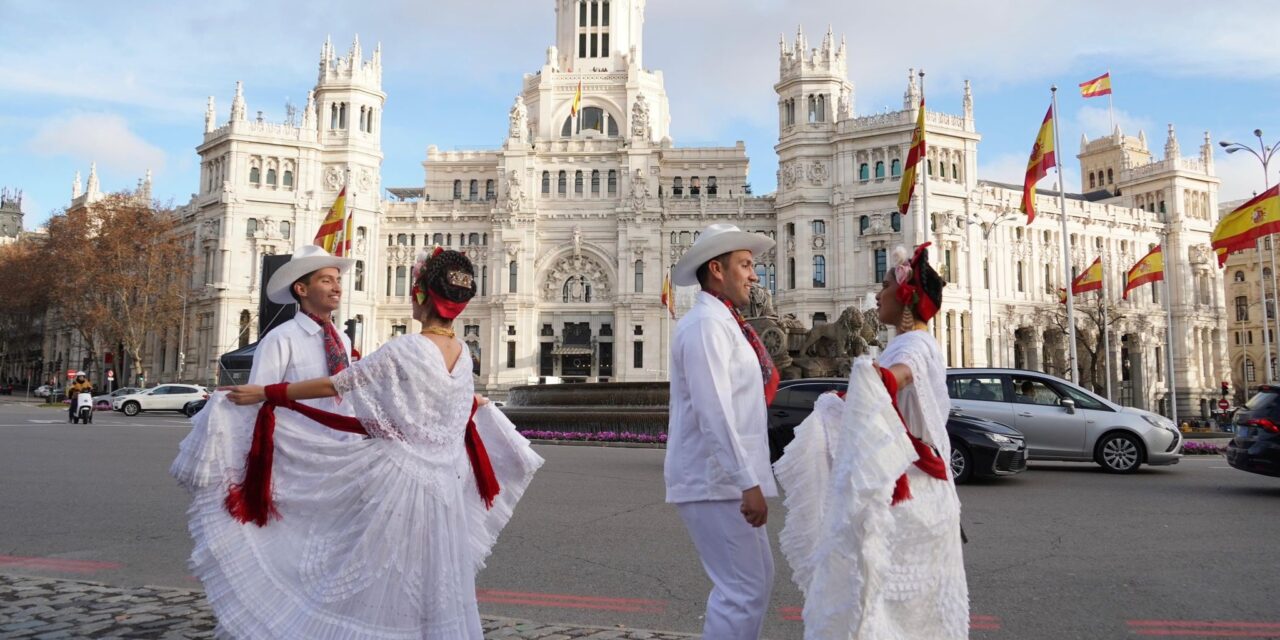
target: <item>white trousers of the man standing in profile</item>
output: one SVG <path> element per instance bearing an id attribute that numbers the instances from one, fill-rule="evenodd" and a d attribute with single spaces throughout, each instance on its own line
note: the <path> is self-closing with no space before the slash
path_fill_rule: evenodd
<path id="1" fill-rule="evenodd" d="M 685 502 L 680 517 L 712 581 L 705 640 L 759 640 L 773 591 L 773 550 L 764 527 L 746 524 L 741 500 Z"/>

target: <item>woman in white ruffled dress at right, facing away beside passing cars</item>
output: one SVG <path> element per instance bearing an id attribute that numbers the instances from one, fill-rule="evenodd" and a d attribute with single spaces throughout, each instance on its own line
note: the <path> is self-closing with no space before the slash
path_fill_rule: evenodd
<path id="1" fill-rule="evenodd" d="M 877 302 L 900 333 L 879 364 L 858 358 L 845 398 L 820 397 L 774 465 L 806 639 L 969 637 L 946 361 L 927 328 L 942 279 L 927 246 L 895 253 Z"/>

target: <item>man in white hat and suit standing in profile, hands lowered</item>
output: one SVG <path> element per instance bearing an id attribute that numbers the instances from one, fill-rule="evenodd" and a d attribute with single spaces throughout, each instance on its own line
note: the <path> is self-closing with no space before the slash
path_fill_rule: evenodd
<path id="1" fill-rule="evenodd" d="M 713 224 L 672 275 L 677 285 L 701 291 L 676 325 L 671 348 L 667 502 L 680 509 L 713 584 L 703 637 L 716 640 L 760 637 L 773 590 L 764 499 L 777 488 L 765 407 L 778 371 L 739 312 L 759 280 L 754 256 L 773 244 Z"/>

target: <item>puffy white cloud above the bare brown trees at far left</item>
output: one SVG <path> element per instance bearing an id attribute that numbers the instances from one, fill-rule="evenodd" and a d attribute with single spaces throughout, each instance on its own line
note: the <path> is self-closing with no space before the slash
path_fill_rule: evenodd
<path id="1" fill-rule="evenodd" d="M 142 140 L 114 114 L 70 114 L 52 118 L 27 142 L 27 148 L 45 156 L 69 156 L 82 164 L 96 161 L 101 169 L 142 175 L 160 173 L 165 152 Z"/>

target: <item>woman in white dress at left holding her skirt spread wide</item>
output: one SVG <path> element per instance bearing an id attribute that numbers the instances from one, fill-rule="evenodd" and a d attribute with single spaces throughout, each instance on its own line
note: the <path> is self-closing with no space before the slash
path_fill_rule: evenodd
<path id="1" fill-rule="evenodd" d="M 475 294 L 471 262 L 438 250 L 413 282 L 422 334 L 333 378 L 218 393 L 182 443 L 191 567 L 221 636 L 483 639 L 476 572 L 543 460 L 474 396 L 449 329 Z M 276 407 L 314 412 L 296 401 L 334 394 L 356 417 L 319 421 L 369 438 L 271 433 Z"/>

